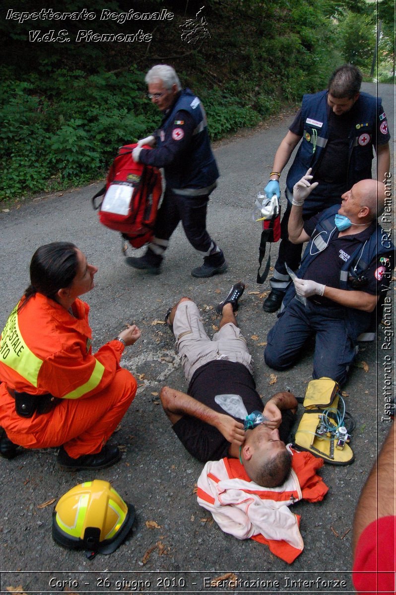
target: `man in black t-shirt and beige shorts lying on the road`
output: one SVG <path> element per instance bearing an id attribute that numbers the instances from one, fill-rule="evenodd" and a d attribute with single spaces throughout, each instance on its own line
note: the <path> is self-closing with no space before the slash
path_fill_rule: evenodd
<path id="1" fill-rule="evenodd" d="M 188 394 L 164 387 L 161 402 L 174 433 L 192 456 L 202 462 L 239 457 L 251 480 L 276 487 L 291 467 L 284 440 L 294 422 L 297 400 L 291 393 L 280 392 L 263 408 L 252 377 L 251 355 L 234 315 L 244 289 L 244 284 L 235 284 L 217 306 L 222 320 L 213 340 L 188 297 L 169 311 L 167 322 L 173 327 L 189 386 Z M 240 396 L 248 414 L 262 412 L 266 421 L 244 430 L 240 418 L 218 405 L 215 397 L 220 395 Z"/>

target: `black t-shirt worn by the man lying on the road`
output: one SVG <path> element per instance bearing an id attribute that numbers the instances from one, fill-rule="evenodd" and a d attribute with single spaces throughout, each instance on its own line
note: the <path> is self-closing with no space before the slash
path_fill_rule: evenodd
<path id="1" fill-rule="evenodd" d="M 252 411 L 262 412 L 264 409 L 247 367 L 226 359 L 217 359 L 198 368 L 190 381 L 188 394 L 224 415 L 227 415 L 226 411 L 214 400 L 217 394 L 239 394 L 248 414 Z M 236 417 L 234 419 L 242 421 Z M 282 413 L 282 424 L 279 427 L 281 440 L 288 439 L 293 421 L 294 415 L 291 412 Z M 188 452 L 198 461 L 217 461 L 228 454 L 230 443 L 219 430 L 200 419 L 184 415 L 173 425 L 173 430 Z"/>

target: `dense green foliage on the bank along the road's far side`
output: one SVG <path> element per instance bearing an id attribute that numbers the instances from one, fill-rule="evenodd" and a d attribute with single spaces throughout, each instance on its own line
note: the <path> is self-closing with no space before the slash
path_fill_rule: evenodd
<path id="1" fill-rule="evenodd" d="M 23 10 L 37 10 L 36 4 L 24 0 Z M 60 3 L 54 3 L 56 10 L 55 4 Z M 166 5 L 162 0 L 138 4 L 147 11 Z M 177 8 L 171 2 L 174 26 L 157 21 L 145 46 L 54 43 L 50 49 L 29 42 L 37 21 L 0 20 L 6 64 L 0 68 L 0 200 L 97 179 L 118 146 L 154 130 L 161 115 L 146 98 L 144 83 L 144 71 L 153 63 L 169 61 L 183 85 L 202 98 L 213 139 L 255 126 L 282 105 L 300 102 L 304 93 L 323 89 L 342 62 L 369 72 L 376 10 L 384 33 L 376 75 L 386 79 L 392 72 L 393 0 L 207 0 L 211 38 L 194 47 L 180 45 L 179 24 L 194 18 L 196 4 L 185 0 Z M 126 5 L 108 0 L 106 8 L 121 12 Z M 5 8 L 15 7 L 5 0 Z M 85 0 L 67 5 L 70 11 L 84 8 Z M 48 21 L 45 29 L 58 26 Z M 132 32 L 132 21 L 127 26 Z M 86 21 L 67 23 L 72 39 L 86 27 Z M 94 28 L 119 31 L 116 21 L 98 18 Z"/>

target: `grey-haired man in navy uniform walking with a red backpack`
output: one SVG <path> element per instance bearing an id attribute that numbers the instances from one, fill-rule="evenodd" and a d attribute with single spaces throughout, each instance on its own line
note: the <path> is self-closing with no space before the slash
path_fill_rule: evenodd
<path id="1" fill-rule="evenodd" d="M 199 98 L 182 90 L 171 66 L 159 64 L 145 77 L 149 98 L 164 114 L 154 136 L 139 140 L 133 150 L 135 161 L 163 167 L 166 189 L 158 211 L 154 237 L 144 256 L 128 258 L 131 267 L 159 273 L 170 236 L 182 221 L 187 239 L 204 257 L 204 264 L 191 271 L 193 277 L 224 273 L 227 264 L 222 250 L 206 230 L 210 193 L 217 186 L 219 170 L 210 147 L 207 121 Z M 155 149 L 144 149 L 143 145 Z"/>

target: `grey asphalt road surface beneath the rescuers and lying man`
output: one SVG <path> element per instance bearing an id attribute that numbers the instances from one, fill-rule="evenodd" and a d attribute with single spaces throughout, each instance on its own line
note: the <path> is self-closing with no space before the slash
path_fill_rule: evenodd
<path id="1" fill-rule="evenodd" d="M 372 84 L 364 85 L 364 90 L 376 93 Z M 379 85 L 379 95 L 388 114 L 393 163 L 394 87 Z M 312 349 L 294 368 L 275 372 L 275 376 L 264 364 L 263 344 L 276 315 L 262 309 L 268 281 L 264 286 L 255 283 L 261 230 L 251 217 L 255 196 L 266 185 L 276 148 L 293 115 L 278 114 L 260 129 L 242 131 L 215 146 L 222 176 L 211 196 L 208 230 L 226 255 L 229 268 L 223 275 L 202 280 L 191 277 L 191 269 L 201 261 L 180 226 L 170 242 L 161 275 L 127 267 L 118 234 L 102 227 L 92 210 L 91 196 L 99 183 L 20 202 L 19 208 L 11 206 L 9 212 L 0 212 L 1 328 L 29 283 L 29 262 L 35 249 L 43 243 L 70 240 L 99 267 L 95 289 L 84 296 L 91 306 L 94 350 L 116 336 L 127 322 L 136 323 L 142 331 L 139 342 L 126 350 L 121 361 L 135 374 L 139 388 L 120 430 L 111 438 L 111 443 L 123 449 L 119 464 L 95 475 L 64 472 L 56 464 L 57 449 L 25 451 L 13 461 L 1 459 L 2 593 L 11 585 L 22 585 L 26 593 L 224 593 L 229 588 L 209 587 L 208 581 L 226 572 L 242 581 L 233 590 L 238 593 L 353 592 L 354 509 L 378 444 L 388 430 L 386 422 L 381 422 L 382 327 L 377 343 L 362 345 L 358 367 L 352 369 L 344 389 L 347 409 L 356 420 L 351 442 L 356 460 L 352 465 L 325 465 L 320 470 L 329 487 L 323 502 L 294 505 L 293 512 L 301 515 L 305 547 L 291 566 L 262 544 L 238 541 L 223 533 L 198 506 L 194 487 L 202 465 L 183 449 L 159 402 L 164 384 L 186 389 L 173 337 L 161 324 L 167 308 L 180 296 L 191 297 L 212 333 L 219 322 L 213 307 L 238 280 L 247 284 L 238 324 L 253 355 L 258 391 L 264 399 L 286 388 L 304 395 L 311 378 Z M 285 178 L 286 172 L 282 186 Z M 143 252 L 141 249 L 137 255 Z M 277 246 L 273 246 L 272 264 L 276 254 Z M 393 300 L 393 290 L 391 297 Z M 299 416 L 302 409 L 300 406 Z M 54 504 L 40 505 L 95 477 L 110 481 L 135 505 L 136 521 L 132 534 L 116 552 L 89 561 L 82 552 L 61 549 L 52 541 Z M 147 521 L 155 521 L 159 527 L 149 528 Z M 260 588 L 257 583 L 249 586 L 244 582 L 257 579 L 264 581 Z M 314 583 L 304 587 L 304 580 Z M 345 587 L 335 587 L 329 582 L 333 580 L 344 580 Z"/>

